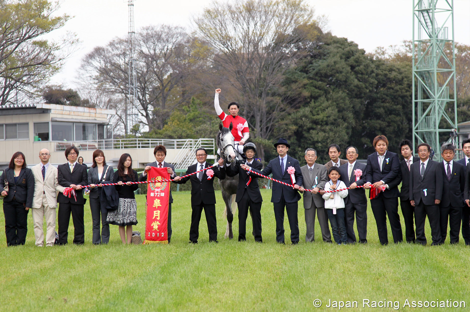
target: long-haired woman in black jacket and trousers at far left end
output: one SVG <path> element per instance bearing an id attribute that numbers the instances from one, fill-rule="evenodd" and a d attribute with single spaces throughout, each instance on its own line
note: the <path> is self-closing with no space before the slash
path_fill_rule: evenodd
<path id="1" fill-rule="evenodd" d="M 5 187 L 8 185 L 8 190 Z M 0 194 L 5 214 L 7 246 L 24 245 L 28 233 L 28 212 L 34 195 L 34 176 L 26 168 L 22 152 L 16 152 L 0 177 Z"/>

